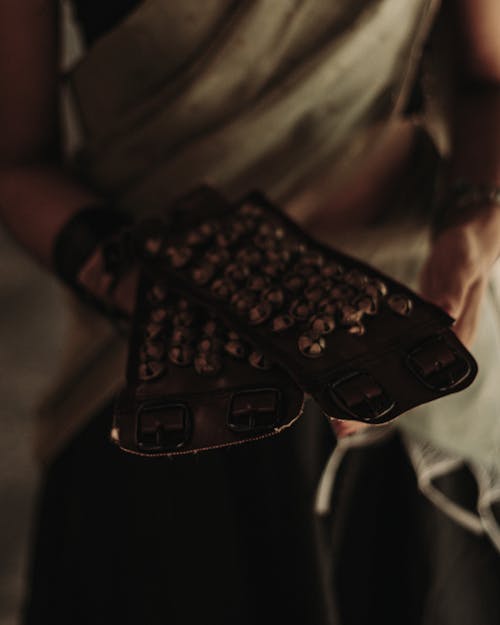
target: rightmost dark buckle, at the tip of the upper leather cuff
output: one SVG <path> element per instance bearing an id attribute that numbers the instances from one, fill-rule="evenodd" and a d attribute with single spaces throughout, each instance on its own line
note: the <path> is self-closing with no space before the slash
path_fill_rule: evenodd
<path id="1" fill-rule="evenodd" d="M 470 363 L 440 336 L 413 349 L 406 363 L 417 378 L 434 391 L 453 389 L 471 372 Z"/>

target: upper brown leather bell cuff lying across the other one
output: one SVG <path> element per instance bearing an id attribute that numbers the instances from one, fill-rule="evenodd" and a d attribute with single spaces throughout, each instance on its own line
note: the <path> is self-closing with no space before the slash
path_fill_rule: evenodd
<path id="1" fill-rule="evenodd" d="M 238 219 L 251 216 L 252 210 L 256 230 L 239 234 L 233 237 L 234 241 L 231 240 L 232 235 L 228 234 L 231 228 L 235 227 Z M 328 416 L 383 423 L 414 406 L 457 392 L 472 383 L 477 365 L 449 329 L 453 320 L 448 315 L 374 268 L 312 240 L 262 195 L 250 194 L 239 206 L 231 207 L 210 223 L 214 234 L 205 245 L 190 247 L 189 232 L 178 232 L 169 237 L 149 265 L 152 273 L 166 277 L 169 284 L 217 313 L 229 326 L 280 364 L 302 389 L 318 401 Z M 272 239 L 271 243 L 266 242 L 266 237 Z M 310 319 L 318 315 L 318 301 L 313 302 L 306 320 L 296 321 L 282 333 L 272 330 L 276 315 L 290 313 L 294 301 L 303 301 L 307 296 L 307 280 L 297 293 L 285 289 L 283 305 L 259 323 L 252 321 L 248 314 L 238 314 L 231 303 L 232 295 L 247 288 L 248 284 L 233 284 L 231 293 L 225 294 L 223 289 L 221 295 L 219 289 L 219 293 L 214 295 L 213 287 L 218 280 L 228 282 L 223 278 L 224 267 L 216 270 L 207 285 L 196 284 L 193 280 L 193 268 L 207 262 L 207 254 L 213 251 L 214 244 L 219 251 L 221 247 L 225 248 L 231 260 L 241 258 L 239 255 L 242 250 L 250 250 L 250 255 L 257 250 L 257 254 L 261 255 L 260 260 L 248 258 L 249 262 L 255 261 L 251 267 L 252 277 L 262 278 L 267 271 L 265 255 L 268 243 L 271 251 L 273 246 L 279 250 L 297 251 L 291 253 L 288 263 L 284 263 L 286 266 L 275 272 L 267 287 L 283 288 L 286 276 L 298 271 L 306 256 L 309 259 L 318 257 L 313 271 L 309 272 L 306 267 L 309 276 L 307 280 L 311 276 L 318 276 L 323 296 L 330 298 L 334 306 L 338 301 L 332 296 L 333 288 L 345 287 L 347 282 L 348 288 L 352 287 L 352 293 L 344 298 L 340 309 L 333 313 L 334 331 L 321 338 L 322 347 L 318 348 L 322 351 L 320 357 L 306 358 L 298 348 L 299 340 L 310 329 Z M 186 255 L 186 249 L 189 252 L 188 260 L 181 258 L 177 262 L 179 251 Z M 177 256 L 173 258 L 172 254 Z M 339 275 L 326 279 L 322 275 L 323 268 L 334 264 L 341 267 Z M 358 283 L 362 283 L 362 286 Z M 360 335 L 357 328 L 353 328 L 356 323 L 342 321 L 345 307 L 357 305 L 360 297 L 366 295 L 366 285 L 380 283 L 384 285 L 386 293 L 376 297 L 376 314 L 362 315 Z M 257 293 L 261 298 L 263 290 L 264 287 Z M 405 306 L 409 309 L 408 314 L 397 312 L 401 302 L 403 309 Z M 426 364 L 424 361 L 429 359 L 430 363 Z M 426 372 L 426 367 L 430 367 L 432 372 Z M 351 376 L 358 378 L 361 385 L 360 402 L 363 404 L 354 410 L 347 405 L 349 398 L 343 382 Z M 352 401 L 355 402 L 355 398 Z"/>

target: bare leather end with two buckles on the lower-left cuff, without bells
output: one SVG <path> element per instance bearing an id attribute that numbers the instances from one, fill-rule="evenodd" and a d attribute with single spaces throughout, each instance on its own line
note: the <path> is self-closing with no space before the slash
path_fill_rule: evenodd
<path id="1" fill-rule="evenodd" d="M 280 367 L 268 369 L 267 363 L 266 370 L 252 367 L 248 362 L 252 349 L 248 345 L 238 358 L 222 352 L 216 374 L 200 375 L 193 354 L 187 366 L 172 363 L 172 319 L 159 326 L 155 343 L 164 351 L 154 361 L 161 373 L 154 379 L 141 380 L 141 350 L 147 345 L 145 330 L 152 310 L 146 297 L 150 284 L 143 278 L 137 307 L 140 313 L 131 338 L 128 385 L 116 403 L 115 436 L 122 448 L 146 455 L 213 449 L 277 434 L 301 415 L 302 391 Z M 180 299 L 169 295 L 168 301 Z M 192 345 L 204 340 L 202 327 L 209 320 L 201 309 L 196 310 L 196 316 Z M 253 427 L 249 421 L 254 421 Z M 149 433 L 144 437 L 141 432 L 145 428 Z M 163 429 L 170 430 L 165 437 Z M 163 438 L 156 439 L 157 433 Z"/>

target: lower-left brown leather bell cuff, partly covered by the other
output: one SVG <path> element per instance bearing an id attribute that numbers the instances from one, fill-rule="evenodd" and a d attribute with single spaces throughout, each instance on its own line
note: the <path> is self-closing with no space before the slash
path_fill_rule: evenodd
<path id="1" fill-rule="evenodd" d="M 218 215 L 228 205 L 206 189 L 183 198 L 173 211 L 169 232 L 200 223 L 207 208 L 210 215 Z M 158 224 L 144 227 L 149 233 L 160 232 Z M 160 317 L 165 313 L 164 318 L 159 320 L 158 313 Z M 207 324 L 214 331 L 213 339 L 204 331 Z M 181 340 L 176 340 L 179 331 Z M 281 367 L 263 359 L 234 333 L 228 336 L 229 332 L 213 314 L 170 289 L 163 278 L 143 272 L 130 337 L 127 388 L 115 406 L 114 441 L 132 453 L 170 456 L 260 440 L 291 426 L 302 414 L 302 390 Z M 195 368 L 196 352 L 210 340 L 216 343 L 209 354 L 216 355 L 218 370 L 202 375 Z M 240 351 L 231 355 L 228 344 L 229 349 L 236 345 Z M 148 345 L 154 354 L 145 359 Z M 183 348 L 189 357 L 185 366 L 179 366 L 172 362 L 171 350 Z M 145 365 L 145 360 L 150 364 Z M 158 369 L 158 375 L 141 379 L 145 366 L 152 373 L 151 365 L 161 372 Z M 149 444 L 141 435 L 144 428 L 149 430 Z M 154 442 L 155 432 L 163 440 Z"/>

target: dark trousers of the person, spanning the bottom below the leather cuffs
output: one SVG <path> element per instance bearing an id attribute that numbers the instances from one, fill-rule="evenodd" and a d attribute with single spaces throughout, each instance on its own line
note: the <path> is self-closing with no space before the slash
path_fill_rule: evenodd
<path id="1" fill-rule="evenodd" d="M 333 440 L 314 409 L 275 439 L 172 461 L 123 454 L 109 422 L 45 477 L 26 625 L 500 623 L 498 553 L 419 494 L 397 435 L 349 452 L 317 519 Z"/>

